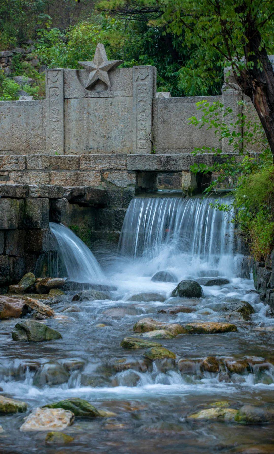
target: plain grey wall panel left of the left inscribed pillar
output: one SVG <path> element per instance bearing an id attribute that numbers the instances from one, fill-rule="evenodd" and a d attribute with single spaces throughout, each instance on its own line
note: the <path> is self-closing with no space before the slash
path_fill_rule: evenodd
<path id="1" fill-rule="evenodd" d="M 44 100 L 0 101 L 0 118 L 2 154 L 45 152 Z"/>

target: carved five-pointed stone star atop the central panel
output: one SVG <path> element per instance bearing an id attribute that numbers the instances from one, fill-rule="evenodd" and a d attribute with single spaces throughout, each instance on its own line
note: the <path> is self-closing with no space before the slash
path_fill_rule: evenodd
<path id="1" fill-rule="evenodd" d="M 88 80 L 86 83 L 86 89 L 91 87 L 97 80 L 102 80 L 108 88 L 111 87 L 108 71 L 110 69 L 117 68 L 119 64 L 123 63 L 122 60 L 108 60 L 105 48 L 103 44 L 97 44 L 93 61 L 79 61 L 78 63 L 86 69 L 89 69 Z"/>

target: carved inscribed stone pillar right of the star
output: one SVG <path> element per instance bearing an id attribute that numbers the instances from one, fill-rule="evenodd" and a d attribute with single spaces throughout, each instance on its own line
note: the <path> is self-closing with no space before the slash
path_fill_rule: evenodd
<path id="1" fill-rule="evenodd" d="M 133 153 L 152 151 L 153 67 L 133 66 Z"/>

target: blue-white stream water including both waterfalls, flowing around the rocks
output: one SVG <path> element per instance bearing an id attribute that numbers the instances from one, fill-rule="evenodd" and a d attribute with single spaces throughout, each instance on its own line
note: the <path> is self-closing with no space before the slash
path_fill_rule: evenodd
<path id="1" fill-rule="evenodd" d="M 0 324 L 0 387 L 11 397 L 24 400 L 29 410 L 68 397 L 87 399 L 98 408 L 117 413 L 110 419 L 76 419 L 65 430 L 71 444 L 50 447 L 43 432 L 19 432 L 24 414 L 0 416 L 2 453 L 270 453 L 273 425 L 241 426 L 199 421 L 186 415 L 210 403 L 227 400 L 233 408 L 246 403 L 263 406 L 273 401 L 273 319 L 254 291 L 252 275 L 241 269 L 233 225 L 215 212 L 209 200 L 199 198 L 134 199 L 127 209 L 118 254 L 100 255 L 103 271 L 83 243 L 64 226 L 51 224 L 59 252 L 71 280 L 107 282 L 116 286 L 100 301 L 72 302 L 75 292 L 54 305 L 68 319 L 49 319 L 62 339 L 40 344 L 12 341 L 15 320 Z M 75 257 L 77 261 L 71 261 Z M 98 255 L 99 257 L 99 255 Z M 70 264 L 70 265 L 69 265 Z M 81 268 L 80 268 L 81 267 Z M 80 270 L 80 271 L 79 271 Z M 195 279 L 205 296 L 171 298 L 176 283 L 154 282 L 157 271 L 170 271 L 176 282 Z M 245 276 L 245 278 L 240 277 Z M 228 277 L 225 286 L 205 286 L 210 277 Z M 158 293 L 164 301 L 131 301 L 137 292 Z M 248 301 L 255 313 L 249 320 L 229 314 L 225 305 Z M 170 315 L 158 311 L 183 304 L 189 313 Z M 142 350 L 124 350 L 123 337 L 131 336 L 137 320 L 231 321 L 237 332 L 181 335 L 159 341 L 190 360 L 190 370 L 180 371 L 173 361 L 147 363 Z M 44 321 L 43 321 L 44 322 Z M 98 325 L 100 324 L 100 325 Z M 105 325 L 105 326 L 102 326 Z M 201 370 L 201 361 L 215 356 L 216 373 Z M 243 373 L 227 370 L 226 360 L 245 358 Z M 45 384 L 49 361 L 68 368 L 78 366 L 59 385 Z M 123 367 L 124 364 L 130 365 Z M 75 363 L 76 364 L 76 363 Z M 268 446 L 268 451 L 255 445 Z M 251 447 L 251 448 L 250 448 Z M 261 449 L 261 450 L 260 450 Z"/>

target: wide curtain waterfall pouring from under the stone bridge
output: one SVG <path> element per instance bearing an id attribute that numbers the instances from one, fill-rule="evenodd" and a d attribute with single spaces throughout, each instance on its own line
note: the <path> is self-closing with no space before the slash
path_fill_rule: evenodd
<path id="1" fill-rule="evenodd" d="M 122 226 L 120 254 L 157 262 L 158 268 L 191 267 L 188 274 L 195 271 L 196 276 L 207 275 L 206 269 L 234 274 L 239 255 L 231 215 L 212 208 L 214 202 L 213 197 L 133 199 Z M 229 204 L 231 199 L 224 197 L 222 202 Z"/>

